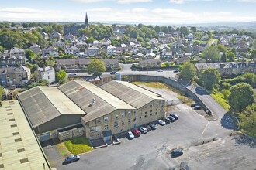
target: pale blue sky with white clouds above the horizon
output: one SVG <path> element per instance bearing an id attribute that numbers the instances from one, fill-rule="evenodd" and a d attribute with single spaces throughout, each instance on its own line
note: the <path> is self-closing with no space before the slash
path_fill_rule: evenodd
<path id="1" fill-rule="evenodd" d="M 0 0 L 0 21 L 191 24 L 256 21 L 256 0 Z"/>

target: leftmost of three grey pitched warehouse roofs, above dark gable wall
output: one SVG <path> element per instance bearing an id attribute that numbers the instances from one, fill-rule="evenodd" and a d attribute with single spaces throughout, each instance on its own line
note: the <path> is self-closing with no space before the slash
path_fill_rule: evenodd
<path id="1" fill-rule="evenodd" d="M 85 114 L 56 87 L 33 87 L 18 96 L 33 128 L 61 114 Z"/>

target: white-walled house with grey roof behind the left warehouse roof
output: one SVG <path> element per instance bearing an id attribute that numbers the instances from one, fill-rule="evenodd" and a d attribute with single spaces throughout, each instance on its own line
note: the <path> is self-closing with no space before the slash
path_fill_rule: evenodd
<path id="1" fill-rule="evenodd" d="M 49 83 L 55 82 L 55 70 L 52 66 L 43 66 L 43 68 L 37 68 L 37 70 L 35 70 L 34 75 L 36 81 L 45 79 L 49 81 Z"/>

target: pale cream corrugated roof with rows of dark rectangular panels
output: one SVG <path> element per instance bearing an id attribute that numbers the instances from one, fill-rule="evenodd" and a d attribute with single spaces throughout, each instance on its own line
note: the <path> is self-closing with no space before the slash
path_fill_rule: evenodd
<path id="1" fill-rule="evenodd" d="M 3 169 L 43 170 L 43 163 L 44 169 L 49 169 L 17 100 L 2 101 L 0 121 L 0 166 Z"/>

